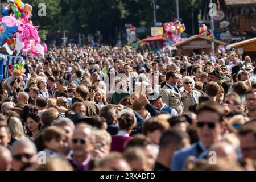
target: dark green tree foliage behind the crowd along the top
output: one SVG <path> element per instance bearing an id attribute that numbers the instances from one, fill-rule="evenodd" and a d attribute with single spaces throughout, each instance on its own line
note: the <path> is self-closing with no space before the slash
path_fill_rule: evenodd
<path id="1" fill-rule="evenodd" d="M 118 32 L 125 31 L 125 24 L 136 27 L 153 26 L 152 0 L 24 0 L 33 7 L 32 21 L 39 25 L 41 36 L 56 32 L 76 32 L 87 35 L 100 31 L 105 43 L 115 44 Z M 158 22 L 171 21 L 176 17 L 176 0 L 155 0 Z M 180 17 L 188 27 L 192 25 L 191 9 L 204 9 L 204 0 L 180 0 Z M 38 4 L 46 4 L 46 17 L 38 16 Z M 196 20 L 195 20 L 196 22 Z"/>

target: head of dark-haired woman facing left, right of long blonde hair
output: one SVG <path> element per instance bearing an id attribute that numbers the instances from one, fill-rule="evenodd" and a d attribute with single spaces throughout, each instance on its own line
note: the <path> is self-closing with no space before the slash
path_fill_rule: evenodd
<path id="1" fill-rule="evenodd" d="M 38 133 L 41 123 L 38 114 L 29 114 L 26 119 L 27 135 L 31 140 L 34 140 L 35 135 Z"/>

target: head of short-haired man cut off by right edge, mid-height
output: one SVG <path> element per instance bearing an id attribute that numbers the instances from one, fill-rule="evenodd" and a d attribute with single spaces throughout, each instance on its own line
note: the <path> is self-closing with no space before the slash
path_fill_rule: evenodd
<path id="1" fill-rule="evenodd" d="M 256 89 L 250 89 L 245 93 L 246 107 L 248 110 L 247 117 L 256 117 Z"/>

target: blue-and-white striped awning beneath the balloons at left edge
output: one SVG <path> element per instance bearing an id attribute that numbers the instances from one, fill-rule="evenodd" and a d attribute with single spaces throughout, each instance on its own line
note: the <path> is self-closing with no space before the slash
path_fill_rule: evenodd
<path id="1" fill-rule="evenodd" d="M 23 57 L 0 54 L 0 67 L 3 69 L 3 78 L 8 77 L 9 65 L 24 63 Z M 1 69 L 1 68 L 0 68 Z M 1 75 L 1 74 L 0 74 Z"/>

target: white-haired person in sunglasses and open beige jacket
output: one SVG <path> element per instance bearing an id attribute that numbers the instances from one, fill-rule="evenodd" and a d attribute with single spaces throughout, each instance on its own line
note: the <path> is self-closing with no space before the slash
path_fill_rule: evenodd
<path id="1" fill-rule="evenodd" d="M 183 94 L 183 105 L 184 111 L 189 111 L 189 106 L 199 104 L 199 98 L 203 97 L 203 94 L 194 89 L 195 81 L 189 76 L 185 76 L 182 79 L 182 86 L 184 87 Z"/>

